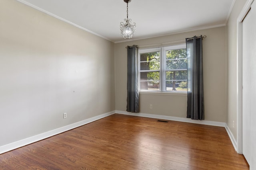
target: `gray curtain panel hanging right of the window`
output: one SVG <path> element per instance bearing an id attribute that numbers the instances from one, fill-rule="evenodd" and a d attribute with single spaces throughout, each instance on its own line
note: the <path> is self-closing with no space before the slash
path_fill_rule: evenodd
<path id="1" fill-rule="evenodd" d="M 204 120 L 202 35 L 186 38 L 188 64 L 187 117 Z"/>

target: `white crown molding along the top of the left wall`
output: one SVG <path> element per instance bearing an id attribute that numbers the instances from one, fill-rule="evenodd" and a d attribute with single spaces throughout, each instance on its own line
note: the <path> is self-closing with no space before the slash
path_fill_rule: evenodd
<path id="1" fill-rule="evenodd" d="M 28 5 L 28 6 L 32 7 L 32 8 L 35 8 L 36 10 L 39 10 L 39 11 L 41 11 L 41 12 L 44 12 L 44 13 L 50 15 L 50 16 L 53 16 L 54 18 L 57 18 L 57 19 L 62 20 L 62 21 L 64 21 L 64 22 L 66 22 L 66 23 L 69 23 L 69 24 L 71 24 L 71 25 L 74 25 L 75 27 L 78 27 L 78 28 L 80 28 L 80 29 L 82 29 L 82 30 L 84 30 L 84 31 L 87 31 L 87 32 L 89 32 L 89 33 L 92 33 L 92 34 L 94 34 L 94 35 L 97 35 L 98 37 L 102 37 L 103 39 L 106 39 L 106 40 L 108 40 L 108 41 L 111 41 L 110 39 L 108 39 L 108 38 L 106 38 L 106 37 L 104 37 L 104 36 L 102 36 L 102 35 L 100 35 L 100 34 L 97 34 L 97 33 L 93 32 L 93 31 L 90 31 L 89 29 L 86 29 L 86 28 L 84 28 L 84 27 L 81 27 L 81 26 L 79 26 L 79 25 L 77 25 L 77 24 L 75 24 L 75 23 L 72 23 L 72 22 L 68 21 L 68 20 L 65 20 L 64 18 L 61 18 L 61 17 L 59 17 L 59 16 L 56 16 L 55 14 L 52 14 L 51 12 L 48 12 L 48 11 L 46 11 L 46 10 L 43 10 L 42 8 L 39 8 L 38 6 L 35 6 L 35 5 L 33 5 L 33 4 L 30 4 L 30 3 L 28 3 L 28 2 L 26 2 L 26 1 L 24 1 L 24 0 L 17 0 L 17 1 L 19 1 L 19 2 L 21 2 L 21 3 L 23 3 L 23 4 L 26 4 L 26 5 Z M 111 42 L 113 42 L 113 41 L 111 41 Z"/>

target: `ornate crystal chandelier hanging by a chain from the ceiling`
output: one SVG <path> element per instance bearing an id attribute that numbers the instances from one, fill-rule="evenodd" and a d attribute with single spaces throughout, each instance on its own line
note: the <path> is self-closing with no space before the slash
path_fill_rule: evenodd
<path id="1" fill-rule="evenodd" d="M 127 19 L 120 22 L 120 34 L 124 38 L 132 38 L 132 35 L 136 30 L 136 23 L 132 23 L 132 20 L 128 19 L 128 3 L 131 2 L 131 0 L 124 0 L 124 2 L 127 3 Z"/>

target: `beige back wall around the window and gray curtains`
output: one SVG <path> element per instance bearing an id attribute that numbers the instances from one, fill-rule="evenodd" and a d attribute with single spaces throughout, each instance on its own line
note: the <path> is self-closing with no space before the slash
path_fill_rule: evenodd
<path id="1" fill-rule="evenodd" d="M 126 111 L 127 45 L 161 44 L 206 35 L 207 38 L 203 40 L 205 120 L 226 122 L 225 31 L 225 27 L 217 27 L 115 44 L 116 110 Z M 152 109 L 149 108 L 150 104 L 153 105 Z M 186 95 L 140 94 L 140 113 L 186 117 Z"/>

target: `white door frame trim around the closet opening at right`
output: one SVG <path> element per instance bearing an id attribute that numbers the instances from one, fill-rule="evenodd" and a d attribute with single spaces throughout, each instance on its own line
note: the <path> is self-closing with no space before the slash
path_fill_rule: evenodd
<path id="1" fill-rule="evenodd" d="M 251 8 L 252 2 L 254 0 L 247 0 L 244 8 L 240 12 L 240 15 L 237 18 L 237 57 L 236 57 L 236 63 L 237 63 L 237 70 L 236 70 L 236 80 L 237 80 L 237 94 L 236 94 L 236 113 L 237 113 L 237 137 L 236 137 L 236 147 L 237 152 L 239 154 L 243 153 L 242 150 L 242 42 L 243 42 L 243 23 L 242 21 L 246 17 L 246 14 Z"/>

